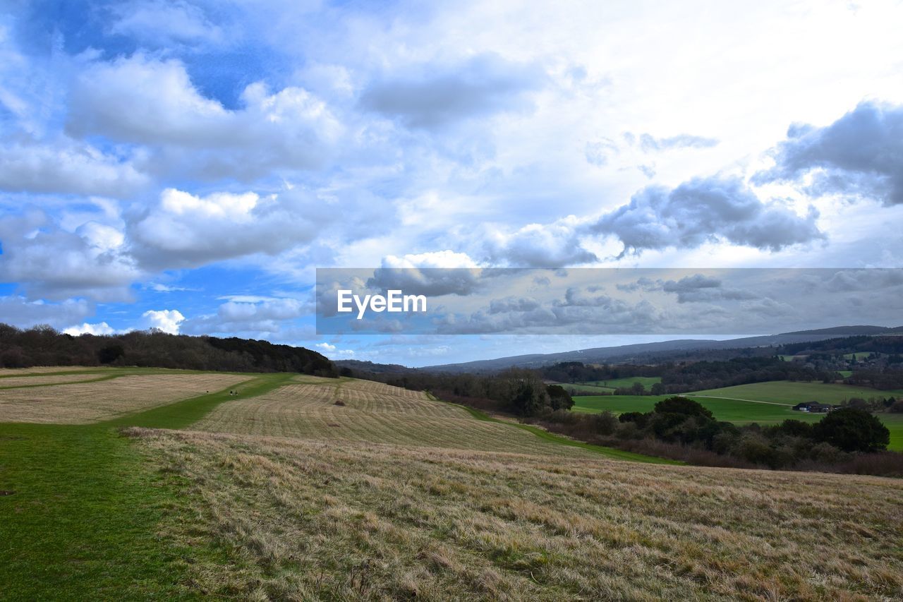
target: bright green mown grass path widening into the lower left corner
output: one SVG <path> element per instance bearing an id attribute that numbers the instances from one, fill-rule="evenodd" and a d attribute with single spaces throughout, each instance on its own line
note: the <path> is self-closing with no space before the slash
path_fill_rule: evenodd
<path id="1" fill-rule="evenodd" d="M 233 386 L 260 395 L 292 374 L 248 375 Z M 183 599 L 186 558 L 217 558 L 157 534 L 167 515 L 191 512 L 179 478 L 154 471 L 119 427 L 186 428 L 228 389 L 92 425 L 0 424 L 2 599 Z"/>

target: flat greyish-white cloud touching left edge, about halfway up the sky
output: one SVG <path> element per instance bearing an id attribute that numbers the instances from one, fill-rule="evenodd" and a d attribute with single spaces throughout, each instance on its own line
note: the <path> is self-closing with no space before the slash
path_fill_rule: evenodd
<path id="1" fill-rule="evenodd" d="M 0 144 L 3 190 L 124 197 L 147 183 L 149 178 L 127 160 L 69 138 L 48 143 L 19 138 Z"/>

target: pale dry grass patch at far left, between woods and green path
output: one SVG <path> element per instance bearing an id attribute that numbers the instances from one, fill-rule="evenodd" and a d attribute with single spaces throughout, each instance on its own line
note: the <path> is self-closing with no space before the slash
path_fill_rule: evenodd
<path id="1" fill-rule="evenodd" d="M 224 389 L 247 379 L 247 376 L 219 373 L 147 374 L 121 376 L 110 381 L 0 390 L 0 422 L 98 422 L 208 390 Z"/>

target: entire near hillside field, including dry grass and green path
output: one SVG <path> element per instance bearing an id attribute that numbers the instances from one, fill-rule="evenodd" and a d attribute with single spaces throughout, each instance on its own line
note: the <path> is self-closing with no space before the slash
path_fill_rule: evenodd
<path id="1" fill-rule="evenodd" d="M 903 597 L 899 480 L 620 461 L 373 382 L 91 372 L 0 372 L 0 598 Z"/>

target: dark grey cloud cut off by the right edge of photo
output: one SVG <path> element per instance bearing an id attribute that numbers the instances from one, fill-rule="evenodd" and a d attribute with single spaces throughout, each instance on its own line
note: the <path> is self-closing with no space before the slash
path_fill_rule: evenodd
<path id="1" fill-rule="evenodd" d="M 903 106 L 863 102 L 827 127 L 796 124 L 774 150 L 776 165 L 753 183 L 814 178 L 806 192 L 903 203 Z M 817 171 L 814 171 L 817 170 Z"/>

